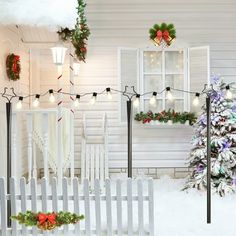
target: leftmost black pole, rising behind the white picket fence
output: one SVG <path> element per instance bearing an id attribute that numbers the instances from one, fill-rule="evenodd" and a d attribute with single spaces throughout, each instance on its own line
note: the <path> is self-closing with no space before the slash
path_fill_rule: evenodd
<path id="1" fill-rule="evenodd" d="M 7 118 L 7 194 L 10 194 L 10 178 L 11 178 L 11 123 L 12 123 L 12 107 L 11 102 L 6 103 Z M 7 201 L 7 226 L 11 227 L 11 202 Z"/>

